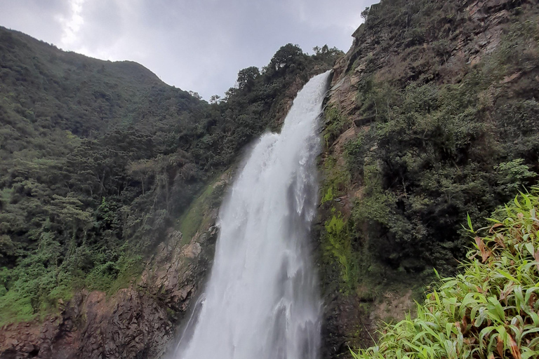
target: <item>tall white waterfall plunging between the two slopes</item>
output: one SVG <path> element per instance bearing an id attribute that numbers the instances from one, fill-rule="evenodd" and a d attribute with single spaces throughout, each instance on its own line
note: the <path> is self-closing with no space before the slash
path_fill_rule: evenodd
<path id="1" fill-rule="evenodd" d="M 281 133 L 262 135 L 234 182 L 206 292 L 173 358 L 317 358 L 321 302 L 307 236 L 328 77 L 305 85 Z"/>

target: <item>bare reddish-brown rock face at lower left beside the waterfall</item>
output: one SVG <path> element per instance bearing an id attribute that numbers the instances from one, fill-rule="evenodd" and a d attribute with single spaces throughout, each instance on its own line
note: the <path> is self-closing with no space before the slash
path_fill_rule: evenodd
<path id="1" fill-rule="evenodd" d="M 211 186 L 220 190 L 229 180 L 227 172 Z M 218 203 L 204 205 L 191 238 L 169 229 L 129 287 L 112 295 L 84 290 L 58 316 L 2 327 L 0 358 L 161 357 L 211 267 Z"/>

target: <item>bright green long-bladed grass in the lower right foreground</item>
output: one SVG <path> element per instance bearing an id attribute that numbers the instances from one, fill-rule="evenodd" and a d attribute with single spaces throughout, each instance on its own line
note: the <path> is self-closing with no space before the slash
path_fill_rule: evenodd
<path id="1" fill-rule="evenodd" d="M 441 279 L 417 318 L 382 330 L 356 359 L 465 359 L 539 356 L 539 189 L 498 210 L 475 236 L 462 273 Z M 485 233 L 480 237 L 477 233 Z"/>

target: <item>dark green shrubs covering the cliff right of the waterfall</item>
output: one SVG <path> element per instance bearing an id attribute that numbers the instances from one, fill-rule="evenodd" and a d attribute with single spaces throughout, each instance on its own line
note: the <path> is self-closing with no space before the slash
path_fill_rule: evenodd
<path id="1" fill-rule="evenodd" d="M 471 31 L 464 9 L 463 1 L 385 0 L 355 35 L 376 47 L 351 55 L 347 70 L 361 68 L 353 112 L 360 125 L 338 168 L 347 175 L 325 186 L 337 189 L 335 198 L 361 187 L 349 233 L 352 255 L 369 254 L 366 276 L 377 262 L 450 273 L 465 255 L 463 216 L 481 222 L 537 179 L 538 9 L 512 3 L 499 45 L 474 64 L 450 62 L 457 44 L 448 39 Z M 354 126 L 334 107 L 326 120 L 329 146 Z"/>

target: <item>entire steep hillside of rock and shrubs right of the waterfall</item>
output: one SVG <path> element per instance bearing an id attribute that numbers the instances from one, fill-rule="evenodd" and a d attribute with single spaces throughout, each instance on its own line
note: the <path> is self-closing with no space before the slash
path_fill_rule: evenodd
<path id="1" fill-rule="evenodd" d="M 539 172 L 537 1 L 384 0 L 335 65 L 321 156 L 326 356 L 451 274 Z M 371 337 L 372 336 L 372 337 Z"/>

